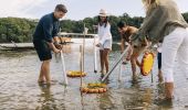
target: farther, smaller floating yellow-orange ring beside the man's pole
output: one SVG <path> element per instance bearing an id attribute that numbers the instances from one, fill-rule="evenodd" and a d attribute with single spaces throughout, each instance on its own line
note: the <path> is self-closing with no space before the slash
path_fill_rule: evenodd
<path id="1" fill-rule="evenodd" d="M 66 75 L 67 77 L 84 77 L 86 76 L 86 73 L 81 73 L 79 70 L 69 70 Z"/>

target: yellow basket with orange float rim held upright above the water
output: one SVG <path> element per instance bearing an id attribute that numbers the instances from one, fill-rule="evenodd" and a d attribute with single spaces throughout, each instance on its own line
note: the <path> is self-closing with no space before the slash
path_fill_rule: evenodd
<path id="1" fill-rule="evenodd" d="M 143 76 L 149 75 L 154 65 L 154 54 L 152 52 L 145 52 L 142 65 L 140 65 L 140 73 Z"/>

